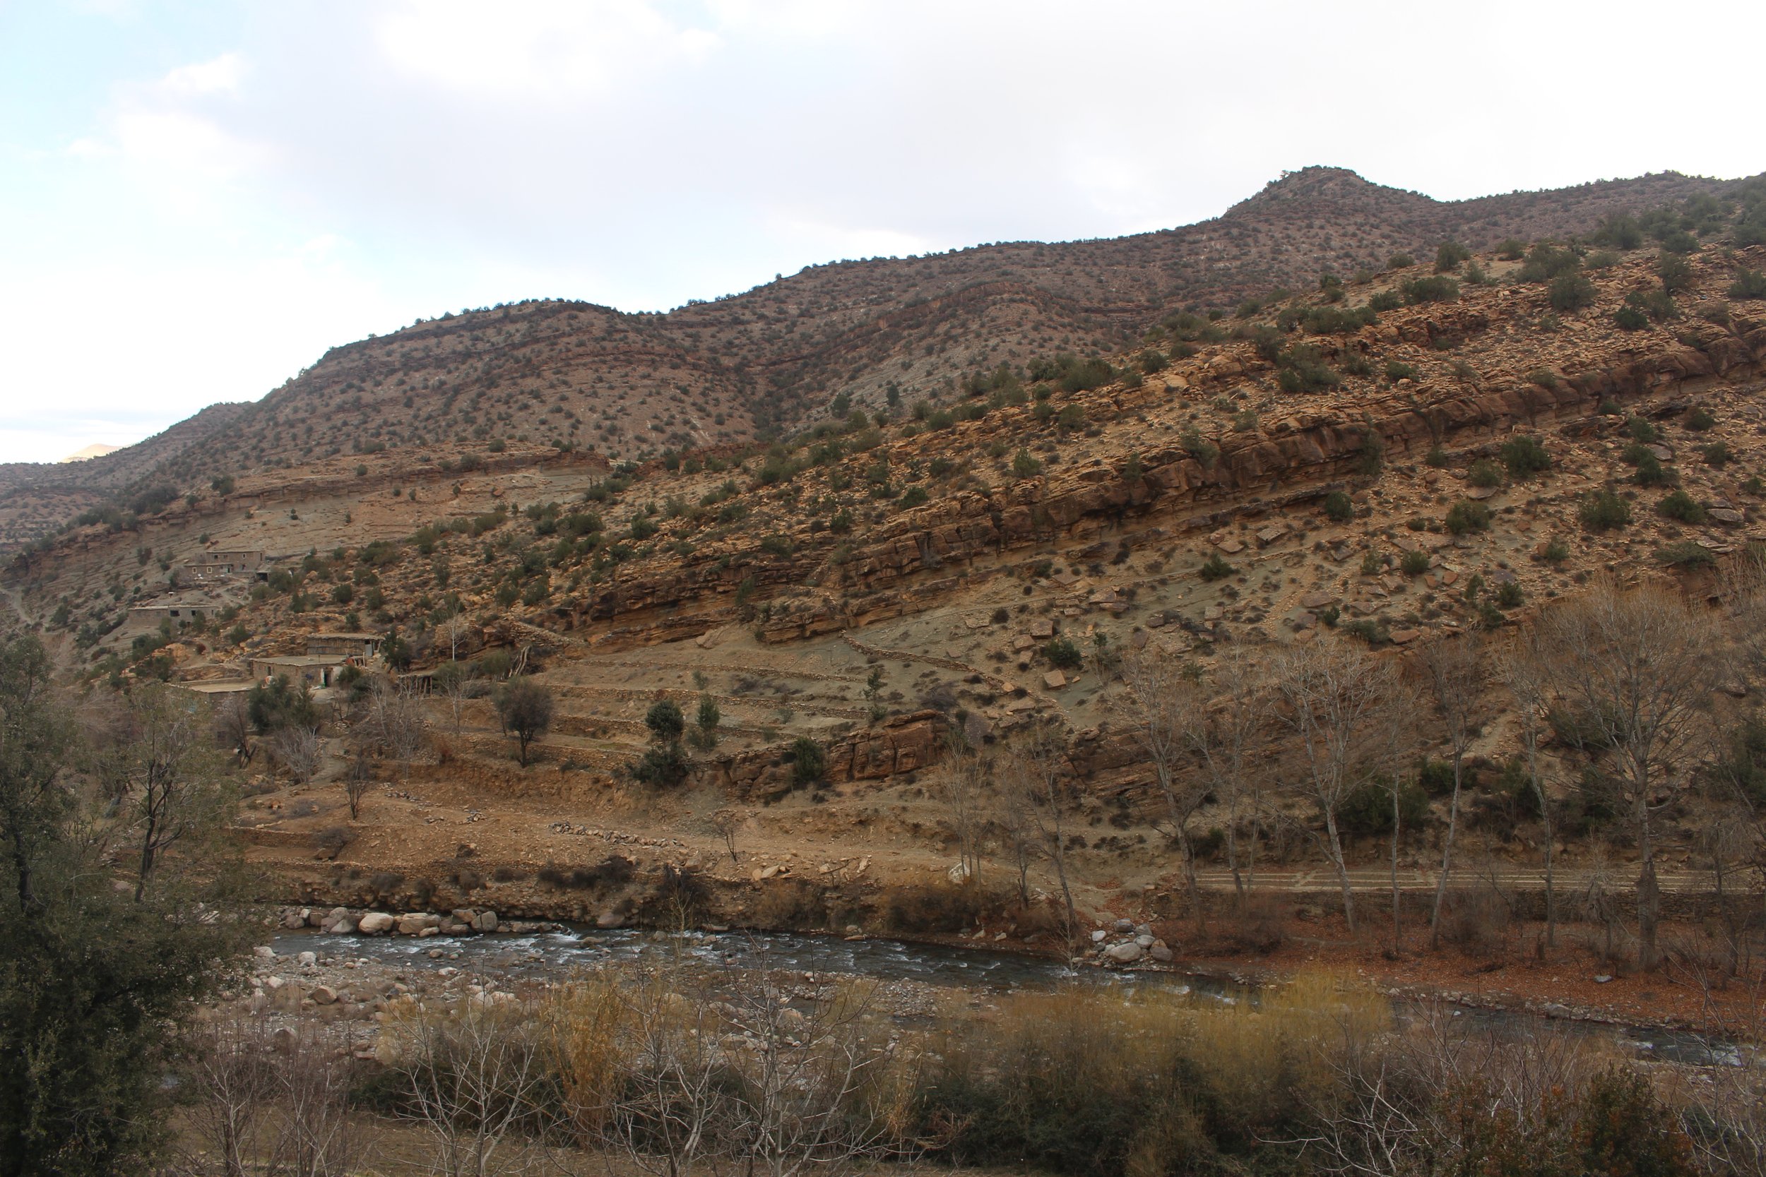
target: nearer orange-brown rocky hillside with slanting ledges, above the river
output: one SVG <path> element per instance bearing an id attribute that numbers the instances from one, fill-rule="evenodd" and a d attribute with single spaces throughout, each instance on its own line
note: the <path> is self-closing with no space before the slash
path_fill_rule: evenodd
<path id="1" fill-rule="evenodd" d="M 1042 727 L 1083 782 L 1068 866 L 1107 903 L 1173 886 L 1121 722 L 1127 653 L 1210 674 L 1227 649 L 1427 646 L 1517 625 L 1609 568 L 1709 584 L 1766 542 L 1766 247 L 1634 245 L 1535 244 L 1241 316 L 1169 312 L 1130 348 L 989 364 L 895 422 L 772 446 L 609 466 L 449 441 L 253 469 L 69 531 L 14 561 L 9 598 L 95 679 L 242 679 L 336 630 L 397 633 L 408 674 L 472 665 L 477 686 L 427 695 L 429 743 L 383 761 L 366 819 L 336 787 L 369 722 L 346 695 L 320 759 L 275 769 L 316 783 L 258 806 L 254 854 L 328 902 L 364 902 L 376 870 L 530 879 L 613 852 L 728 873 L 729 822 L 768 879 L 902 886 L 950 868 L 924 773 L 947 732 L 987 748 Z M 244 549 L 268 552 L 267 579 L 215 588 L 208 614 L 124 611 Z M 510 667 L 555 701 L 533 764 L 491 709 Z M 632 776 L 659 701 L 717 716 L 666 789 Z M 1480 734 L 1469 805 L 1489 824 L 1468 836 L 1524 863 L 1508 741 L 1499 720 Z M 1574 787 L 1570 753 L 1551 755 Z M 1688 861 L 1699 828 L 1694 810 L 1665 821 L 1664 861 Z M 1303 842 L 1272 847 L 1272 868 L 1287 861 Z M 517 909 L 583 916 L 553 875 Z"/>

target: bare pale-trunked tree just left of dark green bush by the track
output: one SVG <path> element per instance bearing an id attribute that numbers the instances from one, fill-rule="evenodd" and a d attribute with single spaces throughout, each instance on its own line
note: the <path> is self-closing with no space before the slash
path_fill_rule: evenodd
<path id="1" fill-rule="evenodd" d="M 1280 701 L 1275 718 L 1298 743 L 1280 780 L 1310 801 L 1324 822 L 1319 842 L 1337 872 L 1344 919 L 1353 932 L 1355 895 L 1337 815 L 1349 794 L 1392 768 L 1397 676 L 1392 663 L 1356 646 L 1312 642 L 1277 660 L 1273 678 Z"/>

